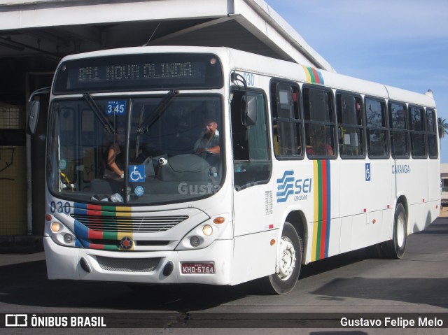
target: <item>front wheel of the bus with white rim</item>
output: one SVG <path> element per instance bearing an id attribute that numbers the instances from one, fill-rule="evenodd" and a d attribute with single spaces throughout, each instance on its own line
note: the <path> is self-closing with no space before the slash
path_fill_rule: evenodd
<path id="1" fill-rule="evenodd" d="M 285 222 L 281 232 L 280 250 L 277 255 L 279 272 L 258 280 L 258 287 L 263 292 L 285 294 L 294 289 L 302 265 L 302 245 L 302 239 L 293 225 Z"/>

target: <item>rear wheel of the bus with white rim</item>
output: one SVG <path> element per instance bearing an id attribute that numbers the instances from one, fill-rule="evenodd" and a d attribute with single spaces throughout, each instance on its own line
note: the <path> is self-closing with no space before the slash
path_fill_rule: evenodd
<path id="1" fill-rule="evenodd" d="M 402 204 L 395 208 L 391 241 L 383 243 L 382 255 L 388 259 L 400 259 L 405 255 L 407 241 L 407 215 Z"/>

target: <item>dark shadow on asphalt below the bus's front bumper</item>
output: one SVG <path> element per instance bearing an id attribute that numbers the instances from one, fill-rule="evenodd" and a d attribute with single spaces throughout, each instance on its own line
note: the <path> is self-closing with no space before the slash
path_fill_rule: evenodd
<path id="1" fill-rule="evenodd" d="M 0 304 L 43 308 L 104 308 L 107 311 L 202 311 L 235 301 L 256 290 L 237 286 L 148 285 L 48 280 L 45 261 L 0 266 Z M 4 274 L 4 276 L 3 276 Z"/>

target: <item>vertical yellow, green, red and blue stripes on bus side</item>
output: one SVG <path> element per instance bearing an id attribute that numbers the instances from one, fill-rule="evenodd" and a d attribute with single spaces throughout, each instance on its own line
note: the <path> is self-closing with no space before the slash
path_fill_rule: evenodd
<path id="1" fill-rule="evenodd" d="M 328 257 L 331 226 L 330 161 L 314 161 L 314 229 L 311 262 Z"/>

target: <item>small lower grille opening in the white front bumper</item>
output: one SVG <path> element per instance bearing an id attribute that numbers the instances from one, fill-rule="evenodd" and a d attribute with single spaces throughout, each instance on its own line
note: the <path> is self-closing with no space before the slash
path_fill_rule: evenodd
<path id="1" fill-rule="evenodd" d="M 113 258 L 97 256 L 99 266 L 106 271 L 152 272 L 157 268 L 158 258 Z"/>

